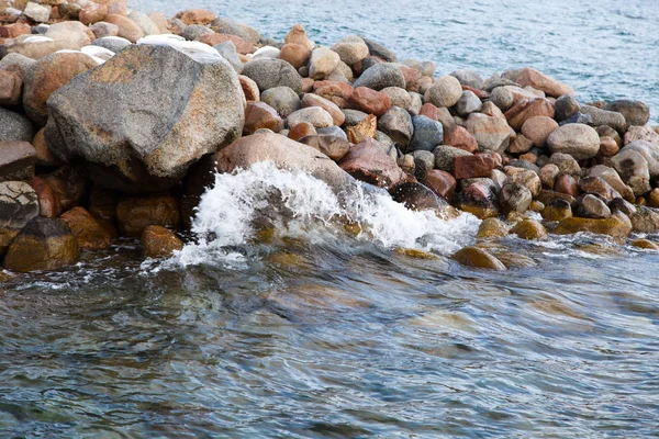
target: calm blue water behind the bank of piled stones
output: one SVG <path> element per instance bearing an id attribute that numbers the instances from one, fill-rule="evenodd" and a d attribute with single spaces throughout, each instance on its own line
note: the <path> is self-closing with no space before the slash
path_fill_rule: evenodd
<path id="1" fill-rule="evenodd" d="M 400 59 L 432 60 L 438 75 L 471 68 L 483 77 L 534 67 L 574 88 L 581 102 L 638 99 L 659 123 L 657 0 L 131 0 L 168 16 L 205 8 L 282 40 L 302 23 L 319 44 L 371 37 Z"/>

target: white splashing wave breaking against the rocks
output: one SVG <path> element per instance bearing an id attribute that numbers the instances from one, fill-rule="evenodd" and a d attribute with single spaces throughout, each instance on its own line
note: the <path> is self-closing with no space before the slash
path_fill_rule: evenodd
<path id="1" fill-rule="evenodd" d="M 324 181 L 301 171 L 278 169 L 264 161 L 235 173 L 217 173 L 202 195 L 192 232 L 197 243 L 186 245 L 171 262 L 179 266 L 244 261 L 236 252 L 254 237 L 255 221 L 267 218 L 278 236 L 311 243 L 348 239 L 346 221 L 357 223 L 358 240 L 393 249 L 416 248 L 450 254 L 473 243 L 480 221 L 471 214 L 444 221 L 432 211 L 414 212 L 382 190 L 356 183 L 337 195 Z"/>

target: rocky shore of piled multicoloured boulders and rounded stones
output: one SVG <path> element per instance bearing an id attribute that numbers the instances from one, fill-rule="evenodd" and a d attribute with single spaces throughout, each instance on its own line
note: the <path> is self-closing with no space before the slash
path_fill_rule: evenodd
<path id="1" fill-rule="evenodd" d="M 263 160 L 478 216 L 479 244 L 453 256 L 468 266 L 505 269 L 488 245 L 509 234 L 658 250 L 634 238 L 659 230 L 649 116 L 578 102 L 530 67 L 436 72 L 358 35 L 323 47 L 301 25 L 278 42 L 205 10 L 14 0 L 0 3 L 0 258 L 57 270 L 118 237 L 168 257 L 213 172 Z"/>

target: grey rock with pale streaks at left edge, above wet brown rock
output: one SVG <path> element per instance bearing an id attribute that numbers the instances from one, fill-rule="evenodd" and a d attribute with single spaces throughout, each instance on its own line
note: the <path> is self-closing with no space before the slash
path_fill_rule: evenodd
<path id="1" fill-rule="evenodd" d="M 24 181 L 0 182 L 0 256 L 38 212 L 38 198 L 30 184 Z"/>

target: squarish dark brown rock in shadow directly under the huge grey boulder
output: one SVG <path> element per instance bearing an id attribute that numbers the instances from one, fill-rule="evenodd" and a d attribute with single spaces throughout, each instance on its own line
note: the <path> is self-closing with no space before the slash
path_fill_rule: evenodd
<path id="1" fill-rule="evenodd" d="M 116 205 L 116 221 L 122 236 L 141 236 L 153 225 L 177 228 L 180 223 L 178 201 L 169 195 L 123 198 Z"/>

